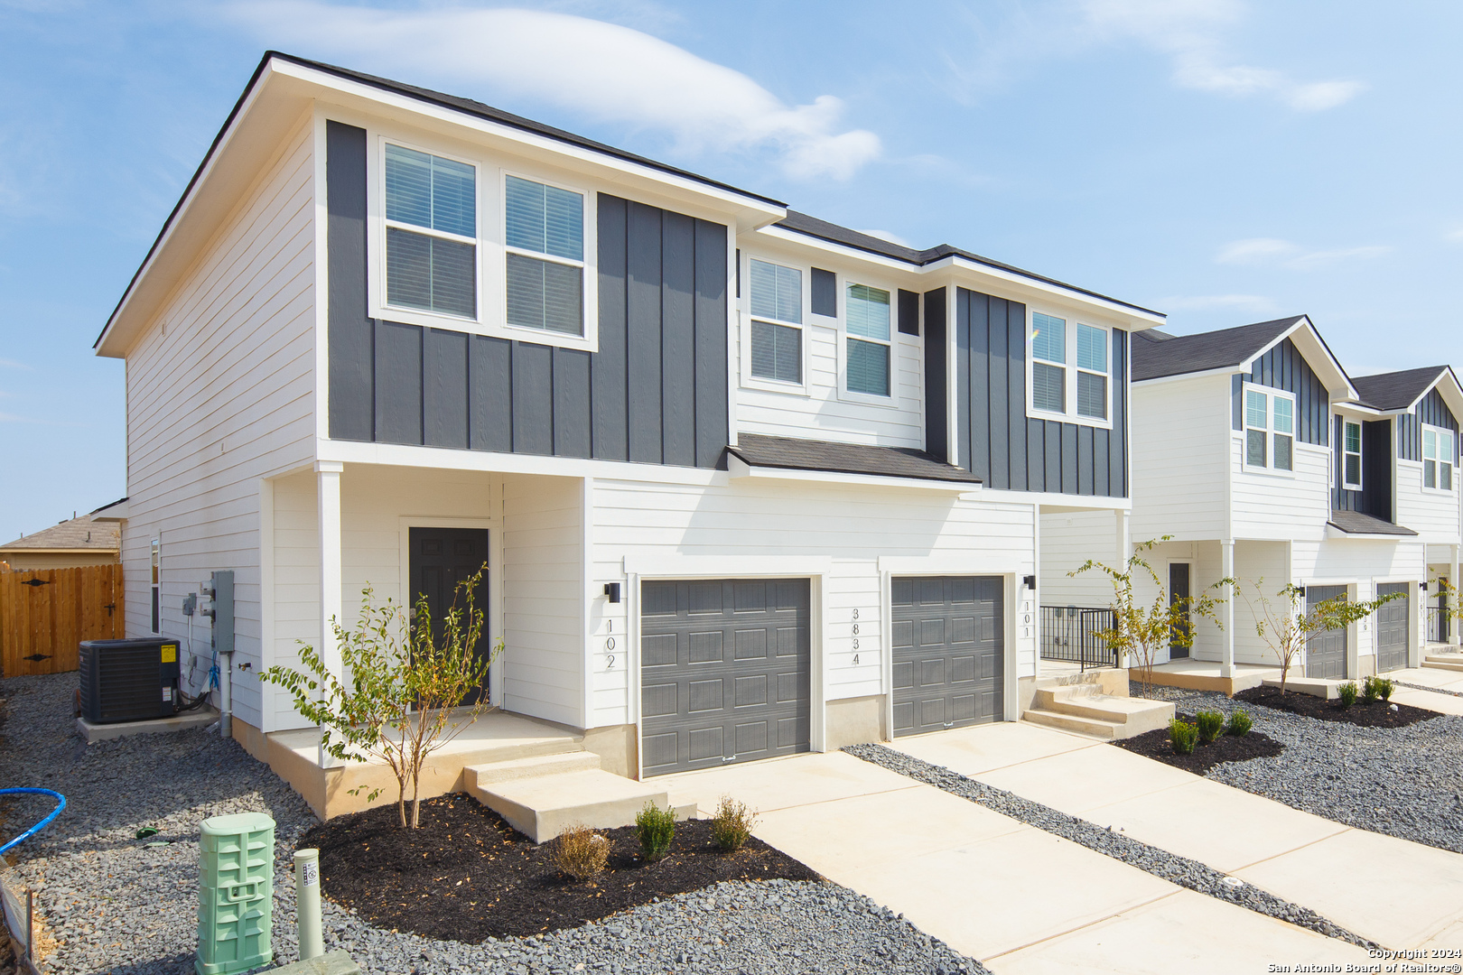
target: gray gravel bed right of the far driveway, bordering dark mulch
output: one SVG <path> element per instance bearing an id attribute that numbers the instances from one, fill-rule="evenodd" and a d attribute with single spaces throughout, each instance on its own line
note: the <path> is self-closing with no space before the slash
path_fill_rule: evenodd
<path id="1" fill-rule="evenodd" d="M 1463 718 L 1359 728 L 1246 706 L 1214 691 L 1154 687 L 1153 697 L 1181 710 L 1229 715 L 1244 707 L 1255 731 L 1286 747 L 1273 759 L 1216 766 L 1207 778 L 1337 823 L 1463 854 Z"/>

